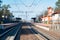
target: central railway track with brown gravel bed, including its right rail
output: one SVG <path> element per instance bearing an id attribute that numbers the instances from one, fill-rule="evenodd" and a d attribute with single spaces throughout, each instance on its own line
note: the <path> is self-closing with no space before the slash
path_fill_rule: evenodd
<path id="1" fill-rule="evenodd" d="M 22 29 L 23 32 L 21 33 L 20 40 L 49 40 L 46 36 L 37 32 L 29 25 L 24 26 Z M 29 36 L 31 36 L 32 38 Z"/>

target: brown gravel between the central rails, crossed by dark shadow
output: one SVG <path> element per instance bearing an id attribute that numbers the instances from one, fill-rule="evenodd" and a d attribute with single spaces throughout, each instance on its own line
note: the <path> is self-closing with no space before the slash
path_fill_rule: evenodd
<path id="1" fill-rule="evenodd" d="M 29 26 L 23 26 L 20 35 L 20 40 L 39 40 L 35 36 L 35 33 L 32 33 L 30 30 L 31 29 L 29 28 Z"/>

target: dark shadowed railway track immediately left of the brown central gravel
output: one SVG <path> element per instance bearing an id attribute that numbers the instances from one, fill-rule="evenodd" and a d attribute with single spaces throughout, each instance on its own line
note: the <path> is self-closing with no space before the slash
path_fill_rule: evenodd
<path id="1" fill-rule="evenodd" d="M 21 25 L 18 24 L 17 26 L 5 31 L 0 35 L 0 40 L 14 40 L 20 28 Z"/>

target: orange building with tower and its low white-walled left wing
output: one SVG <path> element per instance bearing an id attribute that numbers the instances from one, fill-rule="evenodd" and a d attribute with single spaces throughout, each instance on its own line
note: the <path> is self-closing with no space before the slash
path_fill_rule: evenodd
<path id="1" fill-rule="evenodd" d="M 52 7 L 48 7 L 47 10 L 48 10 L 48 15 L 42 18 L 42 22 L 46 24 L 50 24 L 52 18 L 51 15 L 54 13 L 54 10 Z"/>

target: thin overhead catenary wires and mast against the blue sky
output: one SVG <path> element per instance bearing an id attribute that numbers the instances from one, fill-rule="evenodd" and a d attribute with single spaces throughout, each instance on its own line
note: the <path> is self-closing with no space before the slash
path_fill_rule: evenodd
<path id="1" fill-rule="evenodd" d="M 21 2 L 22 5 L 24 5 L 26 8 L 29 8 L 29 7 L 32 7 L 32 6 L 34 5 L 35 0 L 33 0 L 30 5 L 26 5 L 25 3 L 23 3 L 22 0 L 20 0 L 19 2 Z M 20 6 L 18 6 L 19 3 L 16 2 L 16 0 L 14 0 L 14 4 L 12 4 L 12 5 L 15 5 L 15 7 L 19 10 L 19 11 L 13 11 L 13 13 L 25 13 L 26 19 L 27 19 L 27 16 L 28 16 L 27 13 L 33 13 L 33 12 L 28 12 L 28 11 L 23 11 L 23 12 L 21 12 Z M 20 16 L 24 16 L 24 15 L 23 15 L 23 14 L 20 14 Z"/>

